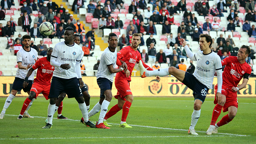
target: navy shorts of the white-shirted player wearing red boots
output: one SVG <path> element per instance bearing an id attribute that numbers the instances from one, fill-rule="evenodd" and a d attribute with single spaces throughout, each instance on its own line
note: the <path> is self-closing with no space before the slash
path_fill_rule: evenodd
<path id="1" fill-rule="evenodd" d="M 100 98 L 105 98 L 104 92 L 106 90 L 112 90 L 112 82 L 107 78 L 98 78 L 97 84 L 100 87 Z"/>

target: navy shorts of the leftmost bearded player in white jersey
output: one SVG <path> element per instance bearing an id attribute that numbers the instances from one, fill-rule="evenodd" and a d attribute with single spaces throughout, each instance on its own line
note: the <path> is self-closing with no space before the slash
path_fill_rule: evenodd
<path id="1" fill-rule="evenodd" d="M 23 89 L 24 92 L 30 92 L 33 81 L 29 80 L 28 85 L 26 87 L 23 87 L 24 81 L 25 81 L 24 79 L 15 77 L 14 82 L 12 84 L 12 90 L 16 90 L 16 91 L 20 92 Z"/>

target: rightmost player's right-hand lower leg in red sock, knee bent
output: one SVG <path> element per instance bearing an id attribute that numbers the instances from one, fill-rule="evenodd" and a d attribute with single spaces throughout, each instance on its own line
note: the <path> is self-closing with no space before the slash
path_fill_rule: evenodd
<path id="1" fill-rule="evenodd" d="M 223 116 L 222 119 L 217 124 L 215 124 L 215 130 L 212 133 L 218 133 L 219 127 L 231 122 L 236 116 L 236 113 L 237 108 L 235 106 L 228 107 L 228 114 L 226 116 Z"/>

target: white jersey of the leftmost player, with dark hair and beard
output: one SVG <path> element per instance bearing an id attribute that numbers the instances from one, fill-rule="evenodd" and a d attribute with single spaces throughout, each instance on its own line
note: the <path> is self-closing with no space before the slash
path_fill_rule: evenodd
<path id="1" fill-rule="evenodd" d="M 24 50 L 24 48 L 22 48 L 17 52 L 16 58 L 17 58 L 17 63 L 21 62 L 22 66 L 24 67 L 27 67 L 29 64 L 31 66 L 30 68 L 32 68 L 32 65 L 36 63 L 35 59 L 37 60 L 38 55 L 36 50 L 33 48 L 30 48 L 30 51 L 26 51 Z M 28 70 L 18 68 L 15 77 L 25 79 L 25 77 L 27 76 Z M 28 77 L 28 80 L 34 80 L 34 76 L 35 76 L 35 71 L 33 71 L 32 74 Z"/>

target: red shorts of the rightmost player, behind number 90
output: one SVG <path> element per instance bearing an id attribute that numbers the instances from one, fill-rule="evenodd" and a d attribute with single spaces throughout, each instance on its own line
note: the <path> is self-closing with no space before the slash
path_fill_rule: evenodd
<path id="1" fill-rule="evenodd" d="M 214 104 L 218 103 L 218 101 L 216 99 L 217 89 L 218 89 L 218 87 L 215 87 Z M 227 112 L 228 107 L 230 107 L 230 106 L 234 106 L 234 107 L 238 108 L 238 101 L 237 101 L 237 93 L 236 92 L 233 92 L 232 90 L 222 86 L 221 94 L 226 96 L 226 103 L 224 104 L 224 106 L 222 108 L 223 112 Z"/>

